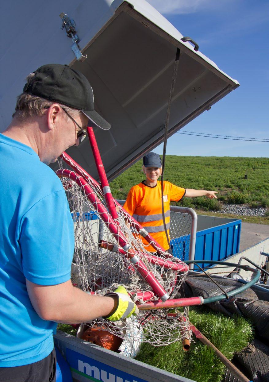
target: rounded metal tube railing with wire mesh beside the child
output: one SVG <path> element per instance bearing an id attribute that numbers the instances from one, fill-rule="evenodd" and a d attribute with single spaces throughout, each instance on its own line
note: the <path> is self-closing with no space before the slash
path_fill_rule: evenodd
<path id="1" fill-rule="evenodd" d="M 117 200 L 121 205 L 125 200 Z M 170 206 L 170 243 L 173 256 L 194 260 L 197 214 L 192 208 Z M 193 264 L 190 264 L 193 269 Z"/>

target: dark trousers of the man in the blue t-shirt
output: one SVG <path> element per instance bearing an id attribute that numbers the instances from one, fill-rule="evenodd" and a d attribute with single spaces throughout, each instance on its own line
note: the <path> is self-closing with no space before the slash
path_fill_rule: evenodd
<path id="1" fill-rule="evenodd" d="M 55 349 L 41 361 L 24 366 L 0 367 L 1 382 L 55 382 Z"/>

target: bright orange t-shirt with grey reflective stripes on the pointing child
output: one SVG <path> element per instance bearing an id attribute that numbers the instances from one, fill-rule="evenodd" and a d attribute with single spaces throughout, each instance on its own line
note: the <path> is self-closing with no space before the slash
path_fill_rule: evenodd
<path id="1" fill-rule="evenodd" d="M 123 208 L 148 231 L 157 243 L 167 250 L 169 249 L 169 244 L 167 243 L 162 220 L 161 185 L 162 183 L 157 181 L 157 185 L 153 187 L 147 186 L 143 182 L 133 186 L 128 193 Z M 185 193 L 185 188 L 164 181 L 164 215 L 168 235 L 170 225 L 170 201 L 180 201 Z M 148 244 L 143 237 L 141 237 L 141 239 L 147 251 L 155 252 L 155 249 Z"/>

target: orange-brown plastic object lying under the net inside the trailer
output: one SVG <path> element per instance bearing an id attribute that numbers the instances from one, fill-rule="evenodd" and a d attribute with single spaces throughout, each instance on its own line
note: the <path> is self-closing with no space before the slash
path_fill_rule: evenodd
<path id="1" fill-rule="evenodd" d="M 105 349 L 116 351 L 122 344 L 122 338 L 105 330 L 104 327 L 95 326 L 85 330 L 82 340 L 95 343 Z"/>

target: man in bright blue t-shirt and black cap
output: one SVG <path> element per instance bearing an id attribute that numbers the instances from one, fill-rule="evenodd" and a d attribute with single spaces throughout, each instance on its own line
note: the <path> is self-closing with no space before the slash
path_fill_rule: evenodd
<path id="1" fill-rule="evenodd" d="M 88 124 L 110 128 L 94 110 L 88 80 L 51 64 L 29 74 L 0 134 L 0 381 L 55 381 L 56 322 L 138 312 L 122 287 L 123 293 L 92 296 L 70 280 L 73 220 L 47 165 L 78 145 Z"/>

